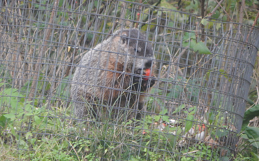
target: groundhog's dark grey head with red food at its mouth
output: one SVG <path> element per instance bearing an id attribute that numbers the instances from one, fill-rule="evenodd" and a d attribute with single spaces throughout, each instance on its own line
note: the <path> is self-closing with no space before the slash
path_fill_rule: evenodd
<path id="1" fill-rule="evenodd" d="M 147 36 L 136 28 L 118 30 L 119 47 L 127 53 L 127 67 L 132 69 L 134 74 L 147 75 L 153 65 L 153 49 L 147 41 Z"/>

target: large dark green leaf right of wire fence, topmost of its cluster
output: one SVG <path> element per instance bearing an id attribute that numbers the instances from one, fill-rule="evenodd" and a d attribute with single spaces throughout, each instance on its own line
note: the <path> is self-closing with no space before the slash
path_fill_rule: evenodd
<path id="1" fill-rule="evenodd" d="M 249 124 L 249 121 L 252 120 L 254 117 L 257 117 L 259 115 L 259 104 L 246 110 L 243 118 L 243 125 L 242 125 L 242 131 L 245 130 L 245 127 Z"/>

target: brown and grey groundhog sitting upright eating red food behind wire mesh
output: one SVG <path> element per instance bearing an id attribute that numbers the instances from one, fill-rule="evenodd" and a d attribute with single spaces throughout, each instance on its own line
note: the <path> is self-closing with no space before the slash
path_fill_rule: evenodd
<path id="1" fill-rule="evenodd" d="M 71 85 L 78 118 L 140 119 L 143 92 L 155 84 L 146 39 L 136 28 L 120 29 L 83 55 Z"/>

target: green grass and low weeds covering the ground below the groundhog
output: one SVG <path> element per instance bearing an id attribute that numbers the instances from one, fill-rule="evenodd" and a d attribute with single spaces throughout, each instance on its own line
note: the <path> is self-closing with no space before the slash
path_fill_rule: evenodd
<path id="1" fill-rule="evenodd" d="M 70 117 L 71 107 L 46 110 L 45 106 L 30 105 L 14 89 L 5 89 L 1 92 L 4 94 L 7 96 L 1 97 L 2 106 L 9 108 L 0 114 L 3 161 L 224 160 L 218 149 L 205 143 L 193 143 L 187 149 L 178 147 L 183 140 L 182 127 L 168 126 L 160 131 L 154 125 L 168 119 L 163 113 L 146 116 L 134 127 L 130 126 L 134 124 L 131 120 L 120 125 L 108 119 L 77 122 Z"/>

